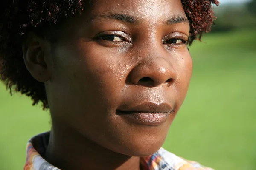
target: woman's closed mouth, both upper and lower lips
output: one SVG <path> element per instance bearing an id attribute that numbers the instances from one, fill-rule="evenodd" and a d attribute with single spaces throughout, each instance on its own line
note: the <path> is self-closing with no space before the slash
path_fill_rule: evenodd
<path id="1" fill-rule="evenodd" d="M 166 103 L 155 104 L 152 102 L 116 110 L 117 115 L 129 122 L 147 126 L 163 124 L 173 112 L 172 107 Z"/>

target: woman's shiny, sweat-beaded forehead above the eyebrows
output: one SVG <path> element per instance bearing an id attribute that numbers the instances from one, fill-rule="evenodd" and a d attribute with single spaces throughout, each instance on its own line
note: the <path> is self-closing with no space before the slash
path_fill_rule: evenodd
<path id="1" fill-rule="evenodd" d="M 90 11 L 92 16 L 127 14 L 151 23 L 169 17 L 186 17 L 180 0 L 93 0 L 90 10 L 87 8 L 86 11 Z"/>

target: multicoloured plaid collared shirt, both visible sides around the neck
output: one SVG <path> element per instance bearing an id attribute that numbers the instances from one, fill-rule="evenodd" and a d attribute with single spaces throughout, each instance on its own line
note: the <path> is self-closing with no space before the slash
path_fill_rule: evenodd
<path id="1" fill-rule="evenodd" d="M 26 164 L 23 170 L 60 170 L 49 164 L 41 155 L 47 148 L 49 132 L 39 134 L 29 140 L 26 148 Z M 213 170 L 195 161 L 187 161 L 163 148 L 151 156 L 140 158 L 142 170 Z"/>

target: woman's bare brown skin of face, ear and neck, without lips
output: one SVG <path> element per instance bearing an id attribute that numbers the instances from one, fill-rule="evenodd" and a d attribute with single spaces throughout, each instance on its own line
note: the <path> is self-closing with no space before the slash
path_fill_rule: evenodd
<path id="1" fill-rule="evenodd" d="M 97 0 L 49 32 L 55 44 L 33 33 L 23 43 L 52 117 L 44 159 L 63 170 L 138 170 L 163 145 L 192 74 L 180 0 Z M 170 112 L 157 125 L 118 114 L 144 103 Z"/>

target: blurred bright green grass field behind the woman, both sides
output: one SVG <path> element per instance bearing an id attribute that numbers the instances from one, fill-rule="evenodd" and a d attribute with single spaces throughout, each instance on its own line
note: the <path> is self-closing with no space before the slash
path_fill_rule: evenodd
<path id="1" fill-rule="evenodd" d="M 194 72 L 164 148 L 216 170 L 256 170 L 256 30 L 209 34 L 190 48 Z M 21 170 L 49 113 L 0 85 L 0 170 Z"/>

